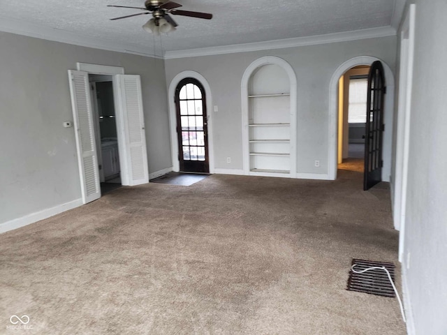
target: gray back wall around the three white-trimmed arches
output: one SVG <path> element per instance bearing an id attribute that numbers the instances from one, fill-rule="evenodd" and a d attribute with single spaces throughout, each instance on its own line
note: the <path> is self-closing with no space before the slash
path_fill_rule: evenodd
<path id="1" fill-rule="evenodd" d="M 298 80 L 298 172 L 328 172 L 329 83 L 338 66 L 353 57 L 374 56 L 395 67 L 396 38 L 370 38 L 280 50 L 166 60 L 166 82 L 184 70 L 203 75 L 210 84 L 213 104 L 215 167 L 242 169 L 241 80 L 251 62 L 263 56 L 286 60 Z M 390 111 L 393 112 L 393 111 Z M 388 144 L 390 146 L 390 143 Z M 231 163 L 226 163 L 231 157 Z M 315 168 L 314 161 L 321 167 Z M 388 163 L 390 157 L 388 158 Z"/>

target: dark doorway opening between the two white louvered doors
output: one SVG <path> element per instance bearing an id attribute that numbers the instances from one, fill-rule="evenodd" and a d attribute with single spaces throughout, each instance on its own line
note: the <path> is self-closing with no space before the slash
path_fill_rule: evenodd
<path id="1" fill-rule="evenodd" d="M 101 194 L 122 186 L 112 75 L 89 75 Z"/>

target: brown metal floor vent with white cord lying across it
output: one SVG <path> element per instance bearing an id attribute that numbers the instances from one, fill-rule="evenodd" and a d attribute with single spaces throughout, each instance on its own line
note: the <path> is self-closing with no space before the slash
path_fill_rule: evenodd
<path id="1" fill-rule="evenodd" d="M 368 267 L 386 267 L 386 269 L 390 272 L 393 282 L 395 281 L 395 265 L 393 263 L 353 259 L 352 265 L 356 265 L 356 267 L 354 267 L 356 271 L 362 271 Z M 351 269 L 351 271 L 349 271 L 347 290 L 369 293 L 370 295 L 381 295 L 382 297 L 394 298 L 396 296 L 386 271 L 381 269 L 372 269 L 363 272 L 362 274 L 356 274 Z"/>

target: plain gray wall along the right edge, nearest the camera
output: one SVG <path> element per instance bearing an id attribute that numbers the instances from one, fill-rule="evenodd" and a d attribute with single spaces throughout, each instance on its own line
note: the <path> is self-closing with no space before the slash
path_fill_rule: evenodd
<path id="1" fill-rule="evenodd" d="M 416 3 L 416 36 L 402 267 L 414 334 L 444 335 L 447 334 L 447 1 L 412 2 Z"/>

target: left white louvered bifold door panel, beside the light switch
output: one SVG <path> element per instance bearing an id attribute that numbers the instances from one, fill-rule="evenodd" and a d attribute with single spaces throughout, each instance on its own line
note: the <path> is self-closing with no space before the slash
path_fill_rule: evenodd
<path id="1" fill-rule="evenodd" d="M 82 202 L 87 204 L 101 198 L 89 75 L 87 72 L 68 70 L 68 79 L 75 123 L 76 149 L 78 149 Z"/>

